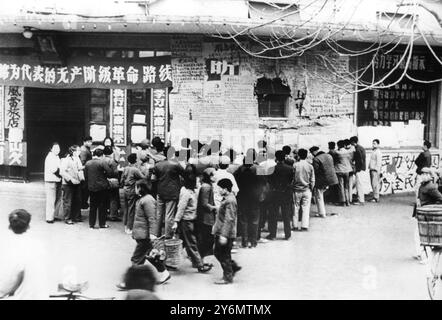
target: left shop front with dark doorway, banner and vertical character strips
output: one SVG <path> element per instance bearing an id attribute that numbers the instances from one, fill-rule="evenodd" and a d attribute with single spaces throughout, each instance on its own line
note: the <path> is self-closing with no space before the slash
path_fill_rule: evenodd
<path id="1" fill-rule="evenodd" d="M 152 51 L 153 52 L 153 51 Z M 0 177 L 41 179 L 53 142 L 63 156 L 91 136 L 110 136 L 121 164 L 141 140 L 167 139 L 170 56 L 76 55 L 63 64 L 0 56 Z"/>

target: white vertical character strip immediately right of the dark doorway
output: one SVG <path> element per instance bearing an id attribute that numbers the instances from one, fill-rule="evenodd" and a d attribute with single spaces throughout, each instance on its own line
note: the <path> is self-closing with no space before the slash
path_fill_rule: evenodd
<path id="1" fill-rule="evenodd" d="M 111 133 L 115 145 L 126 145 L 126 96 L 125 89 L 111 90 Z"/>

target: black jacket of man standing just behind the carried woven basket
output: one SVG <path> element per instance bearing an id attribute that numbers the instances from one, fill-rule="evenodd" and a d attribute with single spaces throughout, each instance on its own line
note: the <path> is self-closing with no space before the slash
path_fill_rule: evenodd
<path id="1" fill-rule="evenodd" d="M 158 183 L 158 195 L 164 200 L 178 200 L 181 190 L 180 177 L 184 168 L 178 163 L 170 160 L 158 162 L 153 174 Z"/>

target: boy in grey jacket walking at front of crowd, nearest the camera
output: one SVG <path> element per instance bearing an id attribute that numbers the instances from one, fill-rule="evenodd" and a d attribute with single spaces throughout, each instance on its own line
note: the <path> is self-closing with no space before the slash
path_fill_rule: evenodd
<path id="1" fill-rule="evenodd" d="M 232 182 L 222 179 L 218 182 L 223 201 L 216 215 L 212 234 L 215 236 L 214 255 L 223 268 L 223 279 L 216 284 L 229 284 L 233 282 L 235 273 L 241 267 L 232 260 L 232 246 L 236 238 L 236 220 L 238 207 L 235 196 L 232 194 Z"/>

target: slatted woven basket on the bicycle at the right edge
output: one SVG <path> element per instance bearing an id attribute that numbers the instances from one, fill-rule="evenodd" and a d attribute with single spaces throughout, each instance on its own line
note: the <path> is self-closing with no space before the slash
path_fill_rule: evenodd
<path id="1" fill-rule="evenodd" d="M 416 209 L 419 236 L 424 246 L 442 246 L 442 205 Z"/>

